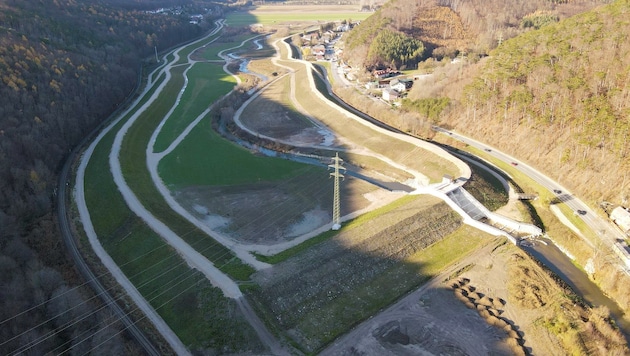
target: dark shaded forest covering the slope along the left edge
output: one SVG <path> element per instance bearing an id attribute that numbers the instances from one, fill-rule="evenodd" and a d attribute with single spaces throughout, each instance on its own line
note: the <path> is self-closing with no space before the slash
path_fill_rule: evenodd
<path id="1" fill-rule="evenodd" d="M 177 12 L 146 12 L 173 5 Z M 82 304 L 90 291 L 75 288 L 81 280 L 55 223 L 56 175 L 68 152 L 133 92 L 154 47 L 200 36 L 215 6 L 0 0 L 0 353 L 82 354 L 102 342 L 99 352 L 135 353 L 119 326 L 92 335 L 111 321 L 106 309 L 90 314 L 98 298 Z M 190 14 L 207 21 L 190 24 Z"/>

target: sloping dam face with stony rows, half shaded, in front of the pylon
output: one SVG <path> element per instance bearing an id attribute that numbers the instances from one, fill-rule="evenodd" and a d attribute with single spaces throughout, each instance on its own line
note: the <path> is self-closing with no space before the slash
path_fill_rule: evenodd
<path id="1" fill-rule="evenodd" d="M 415 197 L 257 272 L 248 293 L 273 327 L 317 352 L 493 240 L 436 198 Z"/>

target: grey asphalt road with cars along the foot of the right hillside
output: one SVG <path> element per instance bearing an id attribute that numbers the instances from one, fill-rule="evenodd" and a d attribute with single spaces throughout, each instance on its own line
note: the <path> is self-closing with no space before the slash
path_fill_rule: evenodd
<path id="1" fill-rule="evenodd" d="M 549 191 L 553 192 L 556 197 L 564 202 L 567 206 L 573 210 L 575 215 L 582 219 L 593 231 L 597 233 L 597 236 L 600 237 L 602 243 L 608 248 L 613 248 L 614 244 L 618 244 L 617 241 L 625 240 L 626 236 L 611 222 L 607 221 L 599 217 L 596 213 L 594 213 L 588 205 L 584 204 L 578 197 L 573 195 L 568 189 L 561 186 L 558 182 L 553 179 L 547 177 L 545 174 L 540 171 L 530 167 L 529 165 L 515 159 L 514 157 L 505 154 L 503 152 L 497 151 L 496 149 L 485 145 L 479 141 L 473 140 L 466 136 L 462 136 L 456 132 L 449 131 L 443 128 L 434 127 L 436 131 L 443 132 L 454 139 L 464 142 L 469 146 L 482 149 L 486 151 L 487 154 L 500 159 L 503 162 L 510 163 L 514 169 L 520 171 L 521 173 L 527 175 L 538 184 L 542 185 Z M 591 244 L 590 241 L 585 240 L 588 244 Z M 592 246 L 597 248 L 597 246 Z M 617 255 L 615 255 L 617 256 Z M 627 261 L 623 260 L 620 256 L 617 256 L 617 260 L 620 262 L 621 267 L 626 271 L 626 273 L 630 273 L 630 268 L 627 266 Z"/>

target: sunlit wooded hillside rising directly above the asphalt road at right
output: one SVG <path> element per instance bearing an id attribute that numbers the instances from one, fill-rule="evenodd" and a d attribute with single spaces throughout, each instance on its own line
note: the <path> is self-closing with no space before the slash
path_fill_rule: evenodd
<path id="1" fill-rule="evenodd" d="M 444 124 L 542 168 L 596 205 L 630 198 L 630 2 L 505 41 Z"/>

